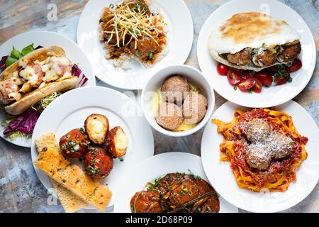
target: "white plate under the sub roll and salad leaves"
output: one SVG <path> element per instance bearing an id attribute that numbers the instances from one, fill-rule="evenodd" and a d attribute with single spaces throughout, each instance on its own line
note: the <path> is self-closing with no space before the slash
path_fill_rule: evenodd
<path id="1" fill-rule="evenodd" d="M 0 57 L 10 55 L 12 46 L 14 46 L 17 50 L 22 50 L 31 43 L 34 43 L 35 48 L 38 45 L 42 45 L 44 47 L 49 47 L 51 45 L 60 45 L 65 50 L 67 57 L 69 57 L 69 60 L 71 60 L 72 63 L 76 63 L 77 65 L 79 65 L 79 68 L 89 79 L 84 86 L 95 86 L 94 71 L 84 52 L 76 43 L 74 43 L 74 41 L 57 33 L 48 31 L 32 31 L 16 35 L 0 46 Z M 2 121 L 4 118 L 6 118 L 6 114 L 4 113 L 4 111 L 0 111 L 0 121 Z M 4 127 L 2 127 L 0 124 L 0 136 L 2 138 L 15 145 L 30 148 L 31 138 L 16 138 L 15 140 L 9 140 L 9 138 L 5 136 L 3 132 Z"/>

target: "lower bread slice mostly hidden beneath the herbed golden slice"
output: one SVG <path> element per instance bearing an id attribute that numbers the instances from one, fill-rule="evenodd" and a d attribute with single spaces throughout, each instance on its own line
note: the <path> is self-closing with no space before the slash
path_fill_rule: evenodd
<path id="1" fill-rule="evenodd" d="M 55 140 L 55 133 L 47 133 L 42 137 L 35 140 L 35 147 L 40 152 L 43 148 L 60 151 L 59 145 Z M 76 194 L 69 191 L 69 189 L 58 184 L 53 179 L 50 179 L 57 196 L 60 199 L 60 203 L 67 213 L 74 213 L 84 209 L 88 204 Z"/>

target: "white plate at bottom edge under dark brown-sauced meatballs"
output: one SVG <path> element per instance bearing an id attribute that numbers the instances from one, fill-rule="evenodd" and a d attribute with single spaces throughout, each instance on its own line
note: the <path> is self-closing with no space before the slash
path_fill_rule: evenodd
<path id="1" fill-rule="evenodd" d="M 114 213 L 130 213 L 130 199 L 135 192 L 145 189 L 147 182 L 153 181 L 157 177 L 163 177 L 168 173 L 188 173 L 189 170 L 208 182 L 201 165 L 201 157 L 189 153 L 169 152 L 148 158 L 123 177 L 122 187 L 120 187 L 118 196 L 116 196 Z M 220 196 L 219 201 L 221 213 L 238 212 L 237 207 L 229 204 Z"/>

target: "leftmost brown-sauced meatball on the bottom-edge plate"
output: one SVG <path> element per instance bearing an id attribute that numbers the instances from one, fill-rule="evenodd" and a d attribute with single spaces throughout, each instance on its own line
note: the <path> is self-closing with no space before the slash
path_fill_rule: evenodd
<path id="1" fill-rule="evenodd" d="M 130 204 L 135 213 L 162 213 L 163 211 L 159 193 L 155 191 L 137 192 Z"/>

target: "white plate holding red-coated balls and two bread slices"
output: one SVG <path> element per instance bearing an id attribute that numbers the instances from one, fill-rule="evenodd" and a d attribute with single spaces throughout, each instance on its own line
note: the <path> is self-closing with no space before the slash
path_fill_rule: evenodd
<path id="1" fill-rule="evenodd" d="M 74 128 L 84 126 L 84 121 L 90 114 L 103 114 L 108 118 L 110 128 L 121 126 L 128 135 L 129 145 L 124 161 L 114 160 L 113 170 L 106 179 L 101 180 L 108 184 L 113 193 L 108 206 L 112 206 L 114 197 L 119 190 L 119 181 L 123 175 L 130 172 L 133 165 L 138 165 L 147 157 L 154 154 L 154 138 L 150 126 L 141 115 L 140 108 L 128 96 L 113 89 L 103 87 L 85 87 L 75 89 L 60 96 L 43 111 L 32 137 L 32 160 L 38 157 L 34 140 L 41 135 L 54 132 L 57 142 L 62 135 Z M 69 159 L 83 167 L 84 163 L 77 159 Z M 35 167 L 40 181 L 46 189 L 52 188 L 49 177 Z"/>

